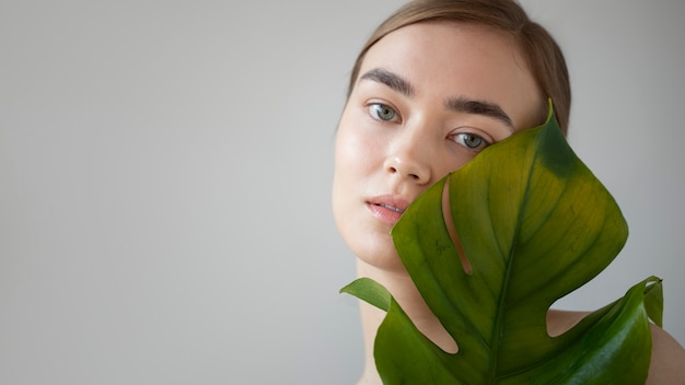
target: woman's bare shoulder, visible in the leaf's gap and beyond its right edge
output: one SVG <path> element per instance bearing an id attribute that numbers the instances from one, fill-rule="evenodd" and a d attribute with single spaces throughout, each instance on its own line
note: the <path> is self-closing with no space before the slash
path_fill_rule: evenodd
<path id="1" fill-rule="evenodd" d="M 588 312 L 552 310 L 547 313 L 547 329 L 550 336 L 558 336 L 577 323 Z M 659 326 L 651 325 L 652 357 L 647 384 L 685 385 L 685 349 Z"/>

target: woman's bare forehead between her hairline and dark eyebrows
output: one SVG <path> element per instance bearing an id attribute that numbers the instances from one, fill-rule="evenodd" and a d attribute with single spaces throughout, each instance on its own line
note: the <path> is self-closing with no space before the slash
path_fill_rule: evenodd
<path id="1" fill-rule="evenodd" d="M 376 68 L 408 80 L 417 98 L 465 96 L 501 105 L 518 128 L 537 125 L 546 105 L 514 38 L 485 25 L 404 26 L 369 49 L 358 81 Z"/>

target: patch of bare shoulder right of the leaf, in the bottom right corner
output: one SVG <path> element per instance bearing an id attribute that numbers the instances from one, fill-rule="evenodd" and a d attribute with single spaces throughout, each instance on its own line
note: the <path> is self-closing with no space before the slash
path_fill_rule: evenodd
<path id="1" fill-rule="evenodd" d="M 685 349 L 655 325 L 652 325 L 652 359 L 647 384 L 685 385 Z"/>

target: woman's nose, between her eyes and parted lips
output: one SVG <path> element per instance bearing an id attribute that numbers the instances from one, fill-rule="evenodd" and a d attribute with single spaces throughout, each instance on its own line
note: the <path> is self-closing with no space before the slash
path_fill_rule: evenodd
<path id="1" fill-rule="evenodd" d="M 407 179 L 419 185 L 428 184 L 431 178 L 428 161 L 430 149 L 421 148 L 411 138 L 397 144 L 385 159 L 385 171 L 400 179 Z"/>

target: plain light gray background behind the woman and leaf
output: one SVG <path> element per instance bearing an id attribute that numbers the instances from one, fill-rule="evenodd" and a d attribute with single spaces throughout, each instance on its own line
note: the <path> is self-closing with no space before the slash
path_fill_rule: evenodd
<path id="1" fill-rule="evenodd" d="M 0 383 L 353 383 L 334 131 L 400 3 L 2 0 Z M 523 3 L 566 50 L 570 141 L 631 226 L 560 306 L 658 275 L 683 342 L 685 2 Z"/>

